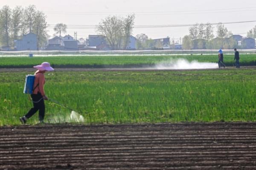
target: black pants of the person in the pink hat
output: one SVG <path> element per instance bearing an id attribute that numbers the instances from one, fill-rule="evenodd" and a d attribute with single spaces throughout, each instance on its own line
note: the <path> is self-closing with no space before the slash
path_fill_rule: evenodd
<path id="1" fill-rule="evenodd" d="M 45 113 L 45 105 L 44 99 L 41 93 L 38 94 L 31 94 L 34 108 L 31 108 L 29 112 L 26 114 L 26 118 L 30 118 L 39 110 L 39 121 L 44 120 L 44 113 Z"/>

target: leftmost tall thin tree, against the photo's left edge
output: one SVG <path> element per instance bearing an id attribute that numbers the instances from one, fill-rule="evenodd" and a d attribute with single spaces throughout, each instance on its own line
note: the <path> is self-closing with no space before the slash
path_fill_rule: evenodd
<path id="1" fill-rule="evenodd" d="M 10 46 L 10 32 L 12 23 L 12 10 L 9 6 L 3 6 L 0 10 L 1 42 L 7 47 Z"/>

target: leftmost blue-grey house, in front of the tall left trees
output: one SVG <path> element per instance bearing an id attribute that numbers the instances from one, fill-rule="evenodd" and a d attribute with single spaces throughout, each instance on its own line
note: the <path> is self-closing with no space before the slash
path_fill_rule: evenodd
<path id="1" fill-rule="evenodd" d="M 21 40 L 14 40 L 14 49 L 17 51 L 37 50 L 37 35 L 30 32 L 23 35 Z"/>

